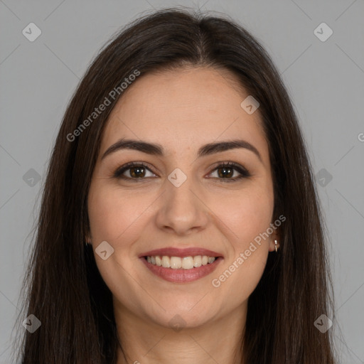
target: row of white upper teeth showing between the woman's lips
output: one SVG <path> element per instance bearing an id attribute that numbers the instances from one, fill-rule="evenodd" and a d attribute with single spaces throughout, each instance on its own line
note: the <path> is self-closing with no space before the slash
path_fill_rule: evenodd
<path id="1" fill-rule="evenodd" d="M 201 265 L 211 264 L 215 262 L 215 257 L 208 257 L 207 255 L 196 255 L 196 257 L 168 257 L 159 255 L 153 257 L 146 257 L 146 261 L 157 265 L 159 267 L 171 268 L 171 269 L 193 269 L 198 268 Z"/>

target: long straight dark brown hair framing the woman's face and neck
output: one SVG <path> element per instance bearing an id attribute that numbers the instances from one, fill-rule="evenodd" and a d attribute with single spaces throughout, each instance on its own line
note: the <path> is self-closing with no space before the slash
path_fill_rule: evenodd
<path id="1" fill-rule="evenodd" d="M 135 70 L 142 77 L 184 65 L 230 70 L 259 101 L 274 180 L 274 220 L 286 217 L 281 248 L 269 254 L 248 301 L 245 364 L 334 363 L 331 330 L 321 333 L 314 326 L 321 314 L 333 319 L 333 289 L 319 198 L 289 95 L 269 55 L 245 28 L 228 17 L 181 9 L 156 11 L 117 33 L 70 100 L 48 166 L 23 282 L 21 363 L 116 363 L 112 294 L 92 247 L 85 246 L 90 179 L 107 118 L 122 97 L 120 87 L 114 98 L 110 92 Z M 110 105 L 91 122 L 105 97 Z M 81 129 L 81 124 L 87 125 Z M 41 321 L 34 333 L 21 327 L 30 314 Z"/>

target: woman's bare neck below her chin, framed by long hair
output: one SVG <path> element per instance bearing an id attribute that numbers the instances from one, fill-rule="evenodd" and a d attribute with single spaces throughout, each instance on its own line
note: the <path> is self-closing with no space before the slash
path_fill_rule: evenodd
<path id="1" fill-rule="evenodd" d="M 228 316 L 211 319 L 203 326 L 183 328 L 168 328 L 141 319 L 115 304 L 117 333 L 122 344 L 117 364 L 242 363 L 247 302 Z"/>

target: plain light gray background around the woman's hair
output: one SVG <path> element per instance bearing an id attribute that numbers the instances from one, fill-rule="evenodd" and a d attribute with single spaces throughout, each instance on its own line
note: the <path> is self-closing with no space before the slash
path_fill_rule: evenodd
<path id="1" fill-rule="evenodd" d="M 262 42 L 282 74 L 319 173 L 336 296 L 330 330 L 341 363 L 364 363 L 363 0 L 0 0 L 0 363 L 9 363 L 37 197 L 77 82 L 118 28 L 180 5 L 232 16 Z M 31 22 L 42 32 L 33 42 L 22 33 Z M 322 22 L 333 30 L 324 42 L 314 34 Z"/>

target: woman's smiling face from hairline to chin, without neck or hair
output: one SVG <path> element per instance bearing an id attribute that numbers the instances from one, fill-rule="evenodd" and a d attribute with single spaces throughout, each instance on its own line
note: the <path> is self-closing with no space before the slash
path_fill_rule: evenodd
<path id="1" fill-rule="evenodd" d="M 262 238 L 272 171 L 259 109 L 240 106 L 248 95 L 226 70 L 184 68 L 140 77 L 112 110 L 88 214 L 119 311 L 196 327 L 246 307 L 277 239 L 275 229 Z M 121 139 L 157 148 L 114 146 Z M 244 143 L 202 149 L 232 140 Z"/>

